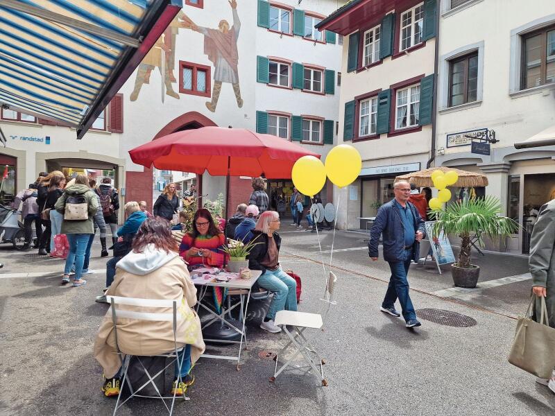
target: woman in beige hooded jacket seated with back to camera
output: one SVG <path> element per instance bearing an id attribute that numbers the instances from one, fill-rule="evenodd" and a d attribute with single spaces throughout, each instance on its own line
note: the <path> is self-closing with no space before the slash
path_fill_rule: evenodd
<path id="1" fill-rule="evenodd" d="M 178 303 L 177 343 L 178 348 L 185 346 L 185 358 L 180 377 L 176 365 L 172 394 L 176 390 L 176 395 L 182 395 L 194 383 L 194 376 L 189 372 L 203 354 L 205 343 L 200 320 L 193 309 L 196 288 L 177 250 L 169 222 L 160 217 L 146 219 L 133 240 L 133 250 L 118 261 L 114 282 L 106 295 L 181 302 Z M 117 307 L 133 310 L 133 306 Z M 172 313 L 171 309 L 163 311 L 160 308 L 155 312 Z M 174 349 L 173 322 L 119 318 L 117 340 L 119 349 L 126 354 L 153 356 L 171 352 Z M 94 358 L 104 369 L 106 380 L 102 390 L 106 396 L 119 394 L 121 362 L 116 352 L 112 311 L 108 310 L 94 342 Z"/>

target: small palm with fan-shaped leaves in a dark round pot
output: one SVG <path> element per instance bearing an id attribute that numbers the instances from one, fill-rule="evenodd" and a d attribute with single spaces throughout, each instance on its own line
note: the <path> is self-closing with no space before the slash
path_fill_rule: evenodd
<path id="1" fill-rule="evenodd" d="M 459 261 L 451 265 L 455 286 L 475 288 L 480 268 L 470 264 L 470 243 L 472 236 L 509 237 L 518 231 L 518 223 L 506 216 L 499 216 L 501 202 L 493 196 L 474 198 L 462 202 L 452 202 L 443 209 L 434 209 L 436 222 L 432 234 L 456 234 L 461 237 Z"/>

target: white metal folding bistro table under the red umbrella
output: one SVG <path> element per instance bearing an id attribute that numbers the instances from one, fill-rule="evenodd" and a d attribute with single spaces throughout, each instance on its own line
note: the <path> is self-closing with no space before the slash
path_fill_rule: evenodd
<path id="1" fill-rule="evenodd" d="M 238 333 L 241 334 L 241 340 L 239 341 L 230 341 L 230 340 L 212 340 L 212 339 L 205 339 L 205 341 L 210 341 L 211 343 L 226 343 L 226 344 L 239 344 L 239 353 L 237 354 L 237 356 L 221 356 L 221 355 L 214 355 L 214 354 L 202 354 L 201 357 L 204 358 L 219 358 L 221 360 L 236 360 L 237 359 L 237 370 L 239 370 L 239 361 L 241 360 L 241 350 L 243 348 L 243 343 L 245 343 L 245 349 L 247 349 L 247 338 L 246 338 L 246 333 L 245 333 L 245 322 L 246 322 L 246 318 L 247 318 L 247 312 L 248 312 L 248 302 L 250 300 L 250 292 L 253 289 L 253 285 L 255 284 L 255 282 L 257 281 L 257 279 L 260 277 L 261 275 L 261 271 L 260 270 L 250 270 L 250 279 L 240 279 L 239 275 L 236 275 L 236 277 L 233 277 L 232 279 L 230 279 L 229 281 L 217 281 L 216 280 L 216 276 L 217 275 L 210 275 L 209 279 L 205 279 L 205 275 L 200 275 L 198 276 L 199 270 L 205 270 L 205 269 L 197 269 L 197 270 L 193 270 L 191 271 L 191 279 L 193 281 L 193 284 L 195 286 L 199 286 L 200 287 L 200 295 L 198 297 L 198 303 L 197 303 L 197 311 L 200 307 L 203 307 L 206 311 L 208 311 L 208 313 L 210 313 L 210 315 L 212 315 L 212 319 L 209 320 L 209 322 L 203 324 L 203 326 L 200 329 L 204 329 L 205 327 L 207 327 L 208 325 L 212 324 L 213 322 L 216 321 L 221 321 L 225 324 L 227 324 L 231 329 L 233 329 L 234 331 L 237 331 Z M 229 275 L 229 273 L 225 273 L 225 275 Z M 239 301 L 235 302 L 235 304 L 229 304 L 228 308 L 225 308 L 225 302 L 222 303 L 221 306 L 221 312 L 218 314 L 216 313 L 216 311 L 212 311 L 212 309 L 210 309 L 208 306 L 206 306 L 205 304 L 202 303 L 203 297 L 206 295 L 208 288 L 214 288 L 214 287 L 219 287 L 219 288 L 227 288 L 227 289 L 232 289 L 232 290 L 239 290 L 241 291 L 239 293 Z M 247 291 L 246 293 L 244 293 L 243 291 Z M 246 302 L 245 302 L 245 296 L 246 296 Z M 237 308 L 237 306 L 239 306 L 239 320 L 241 320 L 241 328 L 237 328 L 234 324 L 230 323 L 228 320 L 225 319 L 225 315 L 230 315 L 230 312 Z"/>

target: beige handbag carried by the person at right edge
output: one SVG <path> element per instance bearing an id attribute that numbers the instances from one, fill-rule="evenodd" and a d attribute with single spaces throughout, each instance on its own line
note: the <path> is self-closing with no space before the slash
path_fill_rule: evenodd
<path id="1" fill-rule="evenodd" d="M 526 315 L 518 318 L 509 363 L 540 379 L 549 379 L 555 367 L 555 328 L 549 327 L 545 297 L 540 297 L 540 322 L 532 320 L 535 300 L 536 295 L 532 295 Z"/>

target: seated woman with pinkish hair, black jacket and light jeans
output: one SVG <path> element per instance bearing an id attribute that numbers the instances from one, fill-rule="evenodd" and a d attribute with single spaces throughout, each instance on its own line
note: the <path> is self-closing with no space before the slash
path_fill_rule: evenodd
<path id="1" fill-rule="evenodd" d="M 297 283 L 293 277 L 287 275 L 280 266 L 280 245 L 282 239 L 277 233 L 280 229 L 280 215 L 275 211 L 260 214 L 253 233 L 257 245 L 248 255 L 248 268 L 261 270 L 262 275 L 257 284 L 273 292 L 273 300 L 266 318 L 260 327 L 268 332 L 281 332 L 281 328 L 274 324 L 275 314 L 286 309 L 297 310 Z"/>

